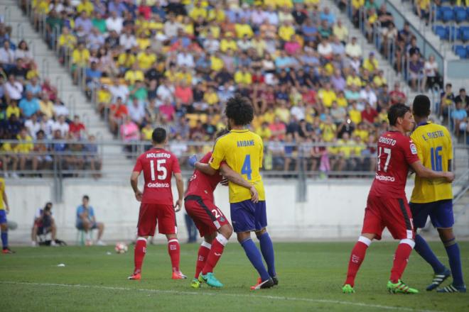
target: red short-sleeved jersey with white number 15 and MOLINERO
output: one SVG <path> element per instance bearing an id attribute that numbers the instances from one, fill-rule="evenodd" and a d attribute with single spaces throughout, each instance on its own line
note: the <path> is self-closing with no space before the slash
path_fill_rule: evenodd
<path id="1" fill-rule="evenodd" d="M 179 162 L 173 153 L 152 148 L 136 160 L 134 172 L 144 172 L 144 196 L 142 204 L 173 205 L 171 177 L 180 173 Z"/>

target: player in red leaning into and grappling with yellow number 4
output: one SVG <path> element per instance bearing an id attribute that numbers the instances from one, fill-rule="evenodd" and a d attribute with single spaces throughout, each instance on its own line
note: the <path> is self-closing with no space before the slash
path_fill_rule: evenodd
<path id="1" fill-rule="evenodd" d="M 217 133 L 217 137 L 226 133 L 229 133 L 229 131 L 222 130 Z M 210 157 L 212 157 L 212 152 L 207 152 L 200 162 L 208 164 Z M 251 191 L 252 201 L 259 201 L 256 188 L 243 179 L 240 174 L 230 169 L 226 163 L 220 165 L 219 174 L 212 176 L 203 174 L 199 170 L 194 171 L 193 176 L 190 177 L 188 190 L 185 193 L 184 206 L 185 211 L 193 219 L 199 230 L 200 237 L 203 237 L 204 241 L 198 251 L 195 277 L 191 284 L 193 288 L 199 288 L 201 282 L 206 282 L 212 287 L 223 286 L 213 275 L 213 268 L 220 260 L 223 249 L 233 233 L 231 224 L 220 208 L 215 206 L 213 199 L 213 191 L 222 182 L 223 177 L 234 184 L 246 187 Z"/>

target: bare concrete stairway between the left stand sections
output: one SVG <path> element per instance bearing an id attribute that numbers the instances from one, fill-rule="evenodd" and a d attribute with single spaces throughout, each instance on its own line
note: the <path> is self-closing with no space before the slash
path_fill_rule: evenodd
<path id="1" fill-rule="evenodd" d="M 87 101 L 82 90 L 72 84 L 72 77 L 68 69 L 60 65 L 53 50 L 49 50 L 41 34 L 36 33 L 28 17 L 23 15 L 17 1 L 2 0 L 0 14 L 4 16 L 5 23 L 12 27 L 11 40 L 14 43 L 26 40 L 33 52 L 41 79 L 48 77 L 50 82 L 58 88 L 60 99 L 68 106 L 70 115 L 80 116 L 88 133 L 96 135 L 97 140 L 108 143 L 102 145 L 101 151 L 104 177 L 114 176 L 123 170 L 130 172 L 131 162 L 122 155 L 120 141 L 113 138 L 112 133 L 108 130 L 107 122 L 99 118 L 95 107 L 90 101 Z"/>

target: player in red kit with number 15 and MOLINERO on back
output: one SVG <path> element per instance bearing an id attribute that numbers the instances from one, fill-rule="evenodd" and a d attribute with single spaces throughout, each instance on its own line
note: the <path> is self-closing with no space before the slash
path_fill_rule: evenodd
<path id="1" fill-rule="evenodd" d="M 134 274 L 129 279 L 141 279 L 141 264 L 146 253 L 146 240 L 155 234 L 156 223 L 158 232 L 165 234 L 168 239 L 168 253 L 173 267 L 173 279 L 186 279 L 179 270 L 179 243 L 176 227 L 176 211 L 180 211 L 183 204 L 184 182 L 180 174 L 179 162 L 176 156 L 163 147 L 166 145 L 166 130 L 156 128 L 151 135 L 153 148 L 144 152 L 136 160 L 131 174 L 130 184 L 134 189 L 135 198 L 141 201 L 139 212 L 138 233 L 134 251 Z M 144 192 L 137 186 L 140 172 L 144 172 Z M 171 191 L 171 177 L 176 177 L 178 186 L 178 200 L 173 206 Z"/>

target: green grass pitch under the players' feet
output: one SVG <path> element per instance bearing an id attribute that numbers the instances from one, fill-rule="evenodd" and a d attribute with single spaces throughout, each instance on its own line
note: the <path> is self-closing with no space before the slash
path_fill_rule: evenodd
<path id="1" fill-rule="evenodd" d="M 356 294 L 342 294 L 354 243 L 274 243 L 279 286 L 250 291 L 257 272 L 237 244 L 225 248 L 215 274 L 222 289 L 191 289 L 198 245 L 181 245 L 186 280 L 171 280 L 166 245 L 149 245 L 141 281 L 127 281 L 133 248 L 117 255 L 107 247 L 17 247 L 0 255 L 0 311 L 469 311 L 469 294 L 436 294 L 425 287 L 432 270 L 413 252 L 403 280 L 421 291 L 386 291 L 397 243 L 370 246 Z M 441 243 L 431 243 L 448 265 Z M 460 243 L 469 274 L 469 242 Z M 112 252 L 112 255 L 107 255 Z M 64 263 L 65 267 L 57 267 Z M 445 282 L 443 285 L 448 284 Z"/>

